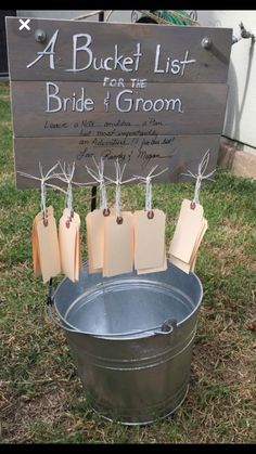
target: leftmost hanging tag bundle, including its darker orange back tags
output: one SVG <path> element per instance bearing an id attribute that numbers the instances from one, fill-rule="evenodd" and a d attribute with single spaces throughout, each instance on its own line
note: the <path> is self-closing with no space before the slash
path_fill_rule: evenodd
<path id="1" fill-rule="evenodd" d="M 61 273 L 60 249 L 56 222 L 53 208 L 48 208 L 48 225 L 43 224 L 43 213 L 36 216 L 34 222 L 33 255 L 36 258 L 34 270 L 36 275 L 42 275 L 43 284 Z"/>

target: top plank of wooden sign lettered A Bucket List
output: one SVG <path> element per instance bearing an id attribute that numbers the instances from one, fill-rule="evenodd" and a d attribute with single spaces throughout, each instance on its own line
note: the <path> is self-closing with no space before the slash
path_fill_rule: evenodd
<path id="1" fill-rule="evenodd" d="M 18 18 L 7 18 L 12 80 L 103 82 L 110 77 L 171 83 L 227 81 L 231 28 L 40 18 L 30 20 L 29 30 L 20 30 L 20 26 Z M 35 40 L 37 29 L 46 33 L 44 42 Z M 202 47 L 204 37 L 212 40 L 210 49 Z M 34 63 L 46 50 L 52 55 Z"/>

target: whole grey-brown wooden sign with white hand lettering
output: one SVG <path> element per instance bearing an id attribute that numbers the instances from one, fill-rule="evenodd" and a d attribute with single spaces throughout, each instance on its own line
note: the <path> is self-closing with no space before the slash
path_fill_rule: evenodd
<path id="1" fill-rule="evenodd" d="M 103 156 L 107 174 L 119 157 L 126 178 L 159 164 L 159 181 L 180 181 L 208 148 L 216 167 L 232 29 L 26 21 L 7 17 L 16 171 L 75 161 L 87 182 Z M 16 173 L 16 185 L 38 182 Z"/>

